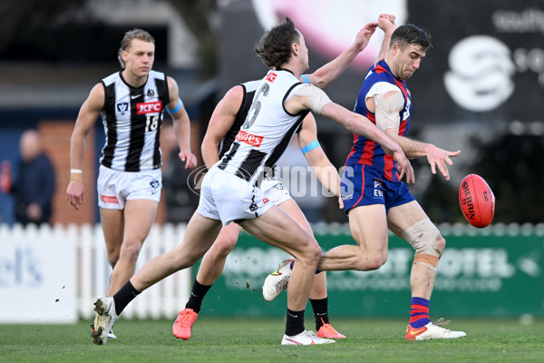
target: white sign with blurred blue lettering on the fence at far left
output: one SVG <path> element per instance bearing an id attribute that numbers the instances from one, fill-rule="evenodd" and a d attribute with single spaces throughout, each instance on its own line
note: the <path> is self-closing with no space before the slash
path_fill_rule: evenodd
<path id="1" fill-rule="evenodd" d="M 0 324 L 75 323 L 78 234 L 41 226 L 3 230 Z"/>

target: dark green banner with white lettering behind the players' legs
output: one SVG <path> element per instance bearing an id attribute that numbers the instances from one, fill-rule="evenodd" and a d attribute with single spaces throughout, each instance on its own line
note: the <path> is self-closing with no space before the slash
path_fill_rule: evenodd
<path id="1" fill-rule="evenodd" d="M 504 229 L 467 231 L 442 230 L 447 247 L 432 294 L 432 319 L 523 314 L 543 317 L 542 234 Z M 355 243 L 345 230 L 336 234 L 330 229 L 316 233 L 316 240 L 323 250 Z M 413 249 L 396 236 L 391 236 L 389 243 L 388 260 L 380 270 L 327 272 L 331 315 L 384 317 L 409 313 Z M 201 311 L 222 316 L 285 314 L 287 294 L 284 292 L 274 301 L 266 302 L 261 287 L 267 274 L 287 258 L 282 250 L 242 233 Z M 309 305 L 308 309 L 311 310 Z"/>

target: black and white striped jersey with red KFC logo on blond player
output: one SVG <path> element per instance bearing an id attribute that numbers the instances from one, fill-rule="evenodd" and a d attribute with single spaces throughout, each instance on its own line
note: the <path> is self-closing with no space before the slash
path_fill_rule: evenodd
<path id="1" fill-rule="evenodd" d="M 134 88 L 118 72 L 102 79 L 102 84 L 106 133 L 102 165 L 121 172 L 160 168 L 160 125 L 170 103 L 166 75 L 151 71 L 147 82 Z"/>

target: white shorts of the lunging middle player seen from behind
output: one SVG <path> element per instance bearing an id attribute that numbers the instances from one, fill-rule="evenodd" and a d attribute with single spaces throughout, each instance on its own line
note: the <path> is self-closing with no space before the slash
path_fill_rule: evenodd
<path id="1" fill-rule="evenodd" d="M 231 221 L 257 218 L 273 205 L 260 188 L 214 166 L 202 180 L 197 211 L 226 226 Z"/>

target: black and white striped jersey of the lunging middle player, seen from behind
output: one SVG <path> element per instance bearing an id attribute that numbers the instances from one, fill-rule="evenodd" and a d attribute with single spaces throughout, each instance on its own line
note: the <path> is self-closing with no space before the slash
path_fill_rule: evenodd
<path id="1" fill-rule="evenodd" d="M 285 69 L 269 71 L 258 86 L 245 123 L 219 162 L 219 169 L 250 183 L 272 168 L 309 111 L 287 113 L 284 103 L 303 83 Z"/>

